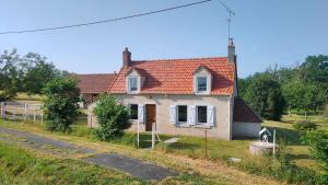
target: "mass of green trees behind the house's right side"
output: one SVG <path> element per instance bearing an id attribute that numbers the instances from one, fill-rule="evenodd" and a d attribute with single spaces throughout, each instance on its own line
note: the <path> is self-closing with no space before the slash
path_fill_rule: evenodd
<path id="1" fill-rule="evenodd" d="M 267 119 L 279 120 L 290 111 L 323 111 L 328 103 L 328 56 L 308 56 L 295 67 L 276 66 L 238 79 L 238 93 Z"/>

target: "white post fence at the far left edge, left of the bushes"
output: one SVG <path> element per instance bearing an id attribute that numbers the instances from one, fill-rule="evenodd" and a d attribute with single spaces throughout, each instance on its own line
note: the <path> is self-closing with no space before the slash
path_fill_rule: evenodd
<path id="1" fill-rule="evenodd" d="M 35 123 L 44 122 L 42 104 L 27 104 L 20 102 L 1 102 L 1 118 L 12 120 L 33 120 Z"/>

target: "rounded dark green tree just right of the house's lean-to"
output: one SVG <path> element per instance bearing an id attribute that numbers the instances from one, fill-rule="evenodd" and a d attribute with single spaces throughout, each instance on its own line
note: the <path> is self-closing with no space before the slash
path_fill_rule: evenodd
<path id="1" fill-rule="evenodd" d="M 279 82 L 271 74 L 257 76 L 247 88 L 245 100 L 262 117 L 280 120 L 284 100 Z"/>

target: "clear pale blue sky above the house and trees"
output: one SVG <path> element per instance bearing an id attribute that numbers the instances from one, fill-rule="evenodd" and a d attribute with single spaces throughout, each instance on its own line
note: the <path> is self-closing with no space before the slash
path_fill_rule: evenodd
<path id="1" fill-rule="evenodd" d="M 0 0 L 0 32 L 98 21 L 197 0 Z M 295 66 L 328 55 L 327 0 L 223 0 L 235 12 L 232 37 L 244 78 L 269 66 Z M 225 56 L 227 14 L 219 0 L 121 22 L 54 32 L 0 35 L 0 50 L 48 57 L 78 73 L 118 71 L 127 46 L 132 59 Z"/>

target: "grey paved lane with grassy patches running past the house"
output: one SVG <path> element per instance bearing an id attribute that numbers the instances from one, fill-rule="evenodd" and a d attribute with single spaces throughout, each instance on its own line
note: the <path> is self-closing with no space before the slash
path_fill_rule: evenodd
<path id="1" fill-rule="evenodd" d="M 141 180 L 161 181 L 168 176 L 178 175 L 177 172 L 138 159 L 114 153 L 96 153 L 96 150 L 94 149 L 79 147 L 66 141 L 55 140 L 15 129 L 0 128 L 0 140 L 22 144 L 43 152 L 50 152 L 52 154 L 93 154 L 92 157 L 82 160 L 104 167 L 116 169 Z"/>

